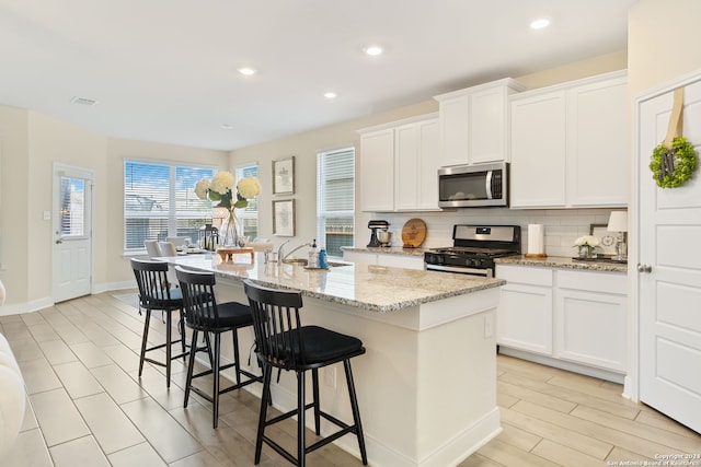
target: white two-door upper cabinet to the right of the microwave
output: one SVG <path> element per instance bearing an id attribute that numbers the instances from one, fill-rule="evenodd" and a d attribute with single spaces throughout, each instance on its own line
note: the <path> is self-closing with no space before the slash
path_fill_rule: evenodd
<path id="1" fill-rule="evenodd" d="M 512 208 L 628 205 L 625 71 L 509 100 Z"/>

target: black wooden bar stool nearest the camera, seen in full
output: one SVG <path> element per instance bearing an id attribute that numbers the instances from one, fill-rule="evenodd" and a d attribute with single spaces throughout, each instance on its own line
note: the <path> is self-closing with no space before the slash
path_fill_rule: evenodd
<path id="1" fill-rule="evenodd" d="M 255 464 L 257 465 L 261 462 L 263 443 L 269 445 L 290 463 L 303 467 L 304 457 L 308 453 L 333 442 L 344 434 L 355 433 L 358 439 L 363 465 L 367 465 L 368 458 L 365 450 L 363 425 L 360 424 L 360 411 L 358 410 L 353 372 L 350 371 L 350 359 L 365 353 L 363 342 L 355 337 L 319 326 L 302 326 L 299 319 L 299 308 L 302 306 L 300 292 L 268 289 L 257 285 L 249 279 L 243 280 L 243 288 L 253 313 L 256 353 L 258 354 L 258 360 L 263 363 L 263 397 L 261 398 L 261 415 L 255 441 Z M 348 384 L 350 409 L 354 419 L 354 424 L 352 425 L 322 411 L 319 407 L 319 369 L 338 362 L 343 362 Z M 297 373 L 297 409 L 266 420 L 271 377 L 275 367 Z M 314 400 L 306 404 L 304 375 L 309 370 L 311 370 Z M 334 423 L 340 430 L 306 446 L 304 412 L 310 408 L 314 410 L 317 435 L 321 434 L 322 417 Z M 265 435 L 266 427 L 292 416 L 297 416 L 297 457 Z"/>

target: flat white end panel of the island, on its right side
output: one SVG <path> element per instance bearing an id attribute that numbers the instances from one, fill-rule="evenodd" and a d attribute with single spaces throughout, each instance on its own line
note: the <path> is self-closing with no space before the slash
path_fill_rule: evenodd
<path id="1" fill-rule="evenodd" d="M 469 310 L 473 295 L 450 305 Z M 422 314 L 440 306 L 422 305 Z M 418 465 L 457 465 L 501 432 L 494 323 L 491 306 L 418 332 Z"/>

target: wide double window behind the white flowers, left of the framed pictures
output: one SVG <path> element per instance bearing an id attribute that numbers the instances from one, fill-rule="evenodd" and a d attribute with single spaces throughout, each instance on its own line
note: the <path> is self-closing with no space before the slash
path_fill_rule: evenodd
<path id="1" fill-rule="evenodd" d="M 197 241 L 211 223 L 211 201 L 197 198 L 195 184 L 211 178 L 215 167 L 125 161 L 124 249 L 143 249 L 143 241 L 186 236 Z"/>

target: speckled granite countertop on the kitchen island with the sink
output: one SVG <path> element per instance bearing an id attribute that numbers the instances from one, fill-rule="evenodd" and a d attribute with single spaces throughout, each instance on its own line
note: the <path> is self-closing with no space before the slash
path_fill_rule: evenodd
<path id="1" fill-rule="evenodd" d="M 262 254 L 256 254 L 254 262 L 251 262 L 249 255 L 237 255 L 235 262 L 222 262 L 219 255 L 212 254 L 158 259 L 212 271 L 221 278 L 249 278 L 263 285 L 301 290 L 307 296 L 379 313 L 395 312 L 506 283 L 502 279 L 384 266 L 356 267 L 349 262 L 346 266 L 333 266 L 329 270 L 307 269 L 299 265 L 265 264 Z"/>

